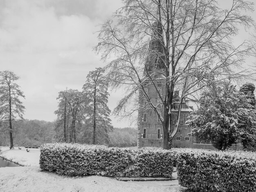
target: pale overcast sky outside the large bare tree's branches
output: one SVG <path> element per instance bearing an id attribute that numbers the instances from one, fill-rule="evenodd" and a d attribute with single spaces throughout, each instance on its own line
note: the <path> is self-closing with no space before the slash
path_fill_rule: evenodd
<path id="1" fill-rule="evenodd" d="M 93 32 L 119 7 L 121 0 L 0 0 L 0 71 L 20 76 L 24 118 L 53 121 L 58 92 L 81 91 L 88 72 L 104 66 L 92 51 Z M 110 109 L 120 98 L 111 94 Z M 129 126 L 114 117 L 112 124 Z"/>

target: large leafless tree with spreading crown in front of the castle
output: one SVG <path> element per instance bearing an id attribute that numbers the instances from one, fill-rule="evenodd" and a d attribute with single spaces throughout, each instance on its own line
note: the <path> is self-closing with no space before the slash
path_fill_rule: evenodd
<path id="1" fill-rule="evenodd" d="M 115 20 L 101 25 L 99 44 L 114 87 L 126 87 L 115 112 L 128 116 L 153 110 L 164 129 L 164 149 L 179 126 L 182 101 L 216 81 L 243 77 L 240 68 L 251 54 L 249 42 L 234 46 L 240 27 L 250 29 L 252 2 L 233 0 L 229 9 L 216 0 L 123 0 Z M 242 72 L 243 71 L 243 72 Z M 156 102 L 147 92 L 154 85 Z M 163 93 L 157 85 L 164 87 Z M 181 90 L 178 119 L 171 136 L 171 108 L 175 89 Z M 155 99 L 155 98 L 154 98 Z M 129 101 L 137 104 L 133 107 Z M 141 105 L 146 100 L 147 105 Z M 130 107 L 130 110 L 127 109 Z"/>

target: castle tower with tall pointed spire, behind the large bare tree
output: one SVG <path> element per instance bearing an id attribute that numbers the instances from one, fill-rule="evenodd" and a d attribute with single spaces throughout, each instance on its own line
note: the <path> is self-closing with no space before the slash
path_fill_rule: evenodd
<path id="1" fill-rule="evenodd" d="M 155 22 L 153 25 L 153 33 L 150 43 L 148 45 L 148 56 L 144 67 L 144 87 L 150 98 L 150 102 L 153 105 L 157 105 L 159 112 L 163 112 L 162 104 L 160 102 L 158 92 L 163 96 L 164 94 L 164 77 L 159 74 L 153 75 L 156 71 L 165 71 L 166 66 L 164 65 L 164 49 L 162 46 L 162 27 L 159 22 Z M 152 80 L 147 79 L 148 74 Z M 150 109 L 148 100 L 142 92 L 139 94 L 139 112 L 138 112 L 138 147 L 163 146 L 163 128 L 157 113 Z M 158 105 L 159 104 L 159 105 Z"/>

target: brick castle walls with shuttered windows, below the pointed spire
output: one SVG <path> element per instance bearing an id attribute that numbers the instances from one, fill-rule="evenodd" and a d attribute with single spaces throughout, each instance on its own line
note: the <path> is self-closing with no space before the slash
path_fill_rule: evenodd
<path id="1" fill-rule="evenodd" d="M 152 88 L 152 89 L 151 89 Z M 148 95 L 153 104 L 158 102 L 157 92 L 153 91 L 151 85 L 148 86 Z M 174 94 L 173 109 L 171 110 L 171 132 L 173 132 L 175 123 L 177 121 L 177 106 L 178 106 L 178 92 Z M 140 107 L 147 105 L 143 101 L 140 103 Z M 188 127 L 184 123 L 186 122 L 190 112 L 192 112 L 192 107 L 189 107 L 186 102 L 182 104 L 181 109 L 181 121 L 177 133 L 172 141 L 173 148 L 199 148 L 199 149 L 214 149 L 213 145 L 202 143 L 198 138 L 189 136 L 189 133 L 192 132 L 192 128 Z M 157 114 L 153 110 L 140 110 L 138 118 L 138 147 L 163 147 L 163 127 L 162 123 L 158 121 Z"/>

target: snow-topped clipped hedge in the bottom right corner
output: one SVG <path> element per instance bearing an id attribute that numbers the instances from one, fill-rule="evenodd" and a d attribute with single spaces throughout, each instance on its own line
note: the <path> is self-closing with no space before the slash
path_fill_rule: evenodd
<path id="1" fill-rule="evenodd" d="M 184 150 L 177 155 L 179 184 L 200 192 L 256 192 L 256 154 Z"/>

